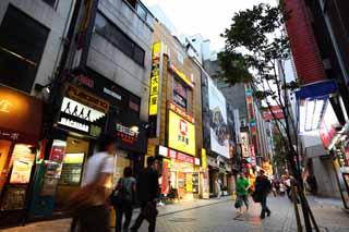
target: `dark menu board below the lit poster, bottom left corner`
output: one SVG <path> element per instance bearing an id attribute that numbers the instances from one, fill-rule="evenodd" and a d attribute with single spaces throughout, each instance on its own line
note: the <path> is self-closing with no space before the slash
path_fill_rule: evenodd
<path id="1" fill-rule="evenodd" d="M 1 210 L 15 210 L 25 207 L 27 185 L 7 185 L 3 191 Z"/>

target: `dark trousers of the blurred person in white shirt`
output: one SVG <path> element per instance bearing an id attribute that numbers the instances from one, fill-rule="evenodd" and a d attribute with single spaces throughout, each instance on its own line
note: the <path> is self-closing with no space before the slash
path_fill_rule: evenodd
<path id="1" fill-rule="evenodd" d="M 79 216 L 80 231 L 82 232 L 109 232 L 109 210 L 105 205 L 91 206 Z"/>

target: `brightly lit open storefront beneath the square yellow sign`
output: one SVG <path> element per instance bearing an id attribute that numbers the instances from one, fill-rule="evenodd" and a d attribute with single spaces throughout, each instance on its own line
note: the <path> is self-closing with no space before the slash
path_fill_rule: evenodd
<path id="1" fill-rule="evenodd" d="M 176 190 L 180 199 L 198 198 L 200 160 L 164 146 L 158 154 L 163 157 L 161 193 L 168 195 Z"/>

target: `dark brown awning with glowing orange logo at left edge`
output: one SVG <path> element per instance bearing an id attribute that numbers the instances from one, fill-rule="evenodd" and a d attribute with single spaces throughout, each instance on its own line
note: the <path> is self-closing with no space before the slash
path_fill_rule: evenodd
<path id="1" fill-rule="evenodd" d="M 36 144 L 41 132 L 40 100 L 0 85 L 0 139 Z"/>

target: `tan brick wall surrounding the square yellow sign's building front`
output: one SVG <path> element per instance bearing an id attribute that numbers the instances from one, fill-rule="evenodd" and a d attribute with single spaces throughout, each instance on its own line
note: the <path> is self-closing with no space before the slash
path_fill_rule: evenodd
<path id="1" fill-rule="evenodd" d="M 185 48 L 179 39 L 173 37 L 171 33 L 161 23 L 155 23 L 153 42 L 161 41 L 164 46 L 163 61 L 163 87 L 161 87 L 161 109 L 160 109 L 160 144 L 166 144 L 167 133 L 167 103 L 172 99 L 172 72 L 168 69 L 168 61 L 173 63 L 178 70 L 192 78 L 195 83 L 193 89 L 189 88 L 188 110 L 186 112 L 195 119 L 195 141 L 196 155 L 201 154 L 203 147 L 202 133 L 202 93 L 201 93 L 201 69 L 197 63 L 188 56 Z"/>

